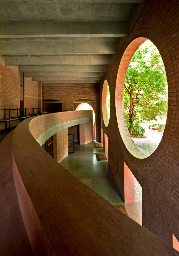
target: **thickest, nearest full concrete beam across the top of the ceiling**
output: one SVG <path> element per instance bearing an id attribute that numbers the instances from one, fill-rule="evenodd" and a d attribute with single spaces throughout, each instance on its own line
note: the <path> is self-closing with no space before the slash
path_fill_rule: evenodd
<path id="1" fill-rule="evenodd" d="M 0 38 L 11 37 L 126 37 L 126 22 L 5 22 Z"/>

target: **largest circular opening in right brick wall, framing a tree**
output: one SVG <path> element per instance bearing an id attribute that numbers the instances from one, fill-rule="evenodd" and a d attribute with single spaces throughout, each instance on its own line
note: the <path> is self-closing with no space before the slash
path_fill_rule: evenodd
<path id="1" fill-rule="evenodd" d="M 146 158 L 156 150 L 167 108 L 167 77 L 161 55 L 150 40 L 137 38 L 124 52 L 116 82 L 118 126 L 133 156 Z"/>

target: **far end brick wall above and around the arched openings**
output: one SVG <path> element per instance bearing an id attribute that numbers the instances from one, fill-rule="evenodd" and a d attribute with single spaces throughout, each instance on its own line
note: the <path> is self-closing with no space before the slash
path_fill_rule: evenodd
<path id="1" fill-rule="evenodd" d="M 43 86 L 43 99 L 63 100 L 62 111 L 72 111 L 73 101 L 95 100 L 96 140 L 100 141 L 100 105 L 98 86 Z"/>

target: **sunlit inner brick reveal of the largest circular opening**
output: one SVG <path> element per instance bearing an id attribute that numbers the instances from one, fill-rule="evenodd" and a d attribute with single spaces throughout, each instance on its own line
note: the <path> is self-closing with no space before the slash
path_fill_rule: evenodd
<path id="1" fill-rule="evenodd" d="M 156 38 L 156 39 L 159 40 L 159 38 Z M 134 53 L 138 49 L 138 47 L 140 45 L 142 45 L 146 40 L 148 40 L 148 38 L 138 37 L 134 40 L 131 40 L 131 43 L 125 49 L 124 54 L 123 54 L 123 56 L 121 58 L 121 61 L 120 61 L 119 69 L 118 69 L 117 80 L 116 80 L 116 92 L 115 92 L 116 116 L 117 116 L 117 122 L 118 122 L 120 135 L 122 137 L 122 140 L 123 140 L 124 145 L 127 148 L 127 150 L 134 157 L 140 158 L 140 159 L 146 158 L 148 156 L 143 154 L 138 149 L 138 147 L 133 142 L 133 140 L 132 140 L 132 138 L 129 134 L 127 124 L 126 124 L 126 121 L 125 121 L 123 94 L 124 94 L 125 77 L 126 77 L 126 73 L 127 73 L 127 69 L 129 67 L 130 61 L 131 61 Z M 160 40 L 159 40 L 159 42 L 160 42 Z M 153 42 L 153 43 L 155 44 L 155 42 Z M 157 46 L 157 44 L 155 44 L 155 45 Z M 162 55 L 161 55 L 161 57 L 162 57 Z M 166 70 L 166 73 L 167 73 L 167 70 Z M 168 86 L 169 86 L 169 84 L 168 84 Z M 166 122 L 166 127 L 167 127 L 167 122 Z M 165 142 L 163 142 L 164 138 L 165 138 Z M 155 150 L 155 151 L 158 151 L 158 152 L 160 150 L 160 153 L 158 154 L 159 158 L 165 152 L 166 144 L 168 144 L 168 143 L 169 143 L 169 136 L 168 136 L 168 134 L 166 132 L 166 129 L 165 129 L 164 134 L 162 136 L 162 140 L 161 140 L 159 146 L 157 147 L 157 149 Z M 156 161 L 156 159 L 154 161 Z"/>

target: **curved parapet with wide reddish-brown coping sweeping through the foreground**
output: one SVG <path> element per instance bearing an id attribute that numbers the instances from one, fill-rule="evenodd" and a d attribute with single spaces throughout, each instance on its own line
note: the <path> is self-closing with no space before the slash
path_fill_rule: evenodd
<path id="1" fill-rule="evenodd" d="M 87 118 L 92 122 L 92 111 L 53 113 L 29 118 L 14 130 L 15 186 L 34 255 L 177 255 L 58 164 L 37 142 L 58 124 L 69 127 Z"/>

